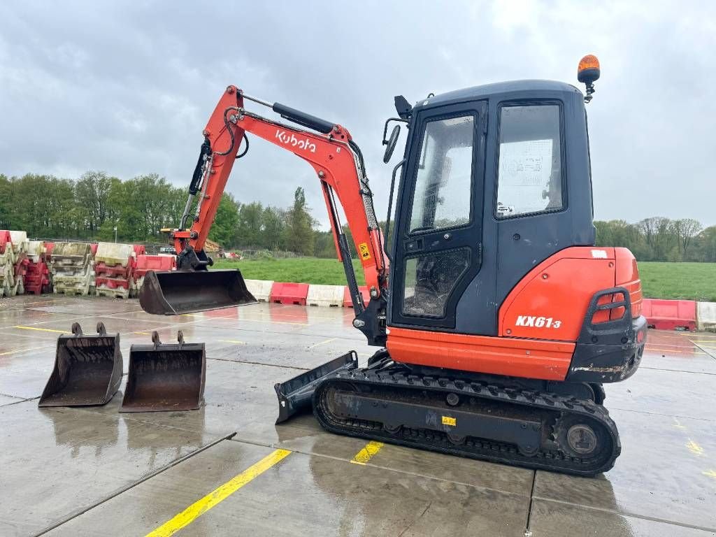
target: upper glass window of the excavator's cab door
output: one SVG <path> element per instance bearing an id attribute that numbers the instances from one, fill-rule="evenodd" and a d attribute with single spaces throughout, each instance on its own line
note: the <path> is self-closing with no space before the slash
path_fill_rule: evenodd
<path id="1" fill-rule="evenodd" d="M 410 233 L 470 222 L 473 175 L 472 115 L 425 125 L 410 211 Z"/>

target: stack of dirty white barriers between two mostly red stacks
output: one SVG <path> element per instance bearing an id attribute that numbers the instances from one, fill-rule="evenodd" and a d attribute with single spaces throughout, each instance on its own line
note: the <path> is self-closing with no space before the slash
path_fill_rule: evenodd
<path id="1" fill-rule="evenodd" d="M 89 243 L 54 243 L 49 261 L 52 291 L 87 296 L 95 288 L 93 266 Z"/>

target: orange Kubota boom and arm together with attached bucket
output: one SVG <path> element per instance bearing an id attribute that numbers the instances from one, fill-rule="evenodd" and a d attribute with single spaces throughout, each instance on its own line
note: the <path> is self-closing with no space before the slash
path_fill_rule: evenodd
<path id="1" fill-rule="evenodd" d="M 318 132 L 301 130 L 248 112 L 244 108 L 245 100 L 271 107 L 281 117 Z M 175 315 L 256 301 L 246 289 L 240 271 L 208 271 L 212 261 L 203 251 L 228 177 L 241 156 L 238 150 L 242 140 L 247 140 L 248 149 L 248 133 L 291 151 L 314 168 L 328 209 L 337 256 L 344 265 L 354 297 L 356 315 L 367 317 L 360 321 L 364 332 L 369 332 L 369 339 L 384 339 L 383 324 L 375 319 L 379 316 L 377 310 L 384 303 L 382 294 L 387 287 L 388 265 L 358 145 L 341 125 L 280 103 L 271 105 L 249 97 L 236 86 L 226 88 L 203 130 L 204 142 L 180 228 L 168 230 L 178 253 L 178 271 L 147 277 L 140 291 L 142 308 L 153 314 Z M 190 213 L 197 195 L 195 216 L 192 216 Z M 364 304 L 358 291 L 337 203 L 341 203 L 352 230 L 371 301 L 375 301 L 371 314 L 366 313 L 368 305 Z M 191 226 L 186 228 L 189 221 Z"/>

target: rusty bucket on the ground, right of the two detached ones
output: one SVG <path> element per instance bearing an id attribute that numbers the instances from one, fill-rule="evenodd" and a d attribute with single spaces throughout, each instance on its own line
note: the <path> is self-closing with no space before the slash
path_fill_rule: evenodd
<path id="1" fill-rule="evenodd" d="M 130 347 L 130 368 L 120 412 L 196 410 L 206 379 L 203 343 L 163 344 L 153 332 L 151 345 Z"/>

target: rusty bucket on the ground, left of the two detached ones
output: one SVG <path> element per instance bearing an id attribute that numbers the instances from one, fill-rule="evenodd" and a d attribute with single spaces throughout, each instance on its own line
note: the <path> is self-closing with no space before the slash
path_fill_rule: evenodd
<path id="1" fill-rule="evenodd" d="M 39 407 L 82 407 L 104 405 L 122 382 L 120 334 L 107 334 L 97 323 L 97 335 L 82 334 L 72 324 L 72 336 L 57 338 L 54 368 Z"/>

